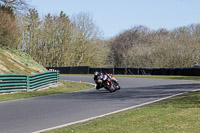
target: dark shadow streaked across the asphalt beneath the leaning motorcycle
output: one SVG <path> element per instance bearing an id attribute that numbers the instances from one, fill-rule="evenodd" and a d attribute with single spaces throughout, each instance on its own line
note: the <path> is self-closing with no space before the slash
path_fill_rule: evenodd
<path id="1" fill-rule="evenodd" d="M 123 88 L 116 92 L 110 93 L 104 88 L 100 90 L 89 90 L 74 93 L 66 93 L 60 95 L 53 95 L 49 98 L 55 100 L 129 100 L 129 99 L 159 99 L 168 97 L 174 94 L 190 92 L 192 90 L 200 89 L 200 83 L 196 84 L 176 84 L 176 85 L 158 85 L 150 87 L 138 88 Z"/>

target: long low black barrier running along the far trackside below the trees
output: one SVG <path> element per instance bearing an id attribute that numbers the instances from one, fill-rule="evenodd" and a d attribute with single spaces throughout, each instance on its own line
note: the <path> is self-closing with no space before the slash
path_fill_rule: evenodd
<path id="1" fill-rule="evenodd" d="M 193 68 L 94 68 L 80 67 L 47 67 L 59 70 L 61 74 L 93 74 L 95 71 L 121 75 L 182 75 L 200 76 L 200 67 Z"/>

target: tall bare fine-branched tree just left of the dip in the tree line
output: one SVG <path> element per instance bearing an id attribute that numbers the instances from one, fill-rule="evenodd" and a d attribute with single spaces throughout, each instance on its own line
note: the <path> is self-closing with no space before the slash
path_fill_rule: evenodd
<path id="1" fill-rule="evenodd" d="M 107 53 L 103 46 L 99 45 L 99 42 L 102 42 L 101 31 L 95 25 L 93 18 L 88 13 L 79 13 L 74 15 L 71 21 L 75 27 L 72 66 L 102 65 Z"/>

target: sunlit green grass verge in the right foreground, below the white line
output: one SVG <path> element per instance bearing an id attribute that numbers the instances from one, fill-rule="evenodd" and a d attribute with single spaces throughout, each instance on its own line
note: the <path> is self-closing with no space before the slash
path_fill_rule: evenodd
<path id="1" fill-rule="evenodd" d="M 45 133 L 199 133 L 200 92 Z"/>

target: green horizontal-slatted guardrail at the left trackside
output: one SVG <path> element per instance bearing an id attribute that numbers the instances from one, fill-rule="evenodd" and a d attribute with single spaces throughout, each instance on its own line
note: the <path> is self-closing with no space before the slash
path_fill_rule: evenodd
<path id="1" fill-rule="evenodd" d="M 0 75 L 0 93 L 34 91 L 59 82 L 59 71 L 49 71 L 34 75 Z"/>

